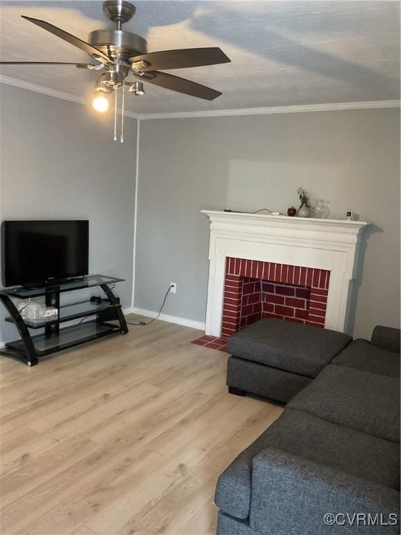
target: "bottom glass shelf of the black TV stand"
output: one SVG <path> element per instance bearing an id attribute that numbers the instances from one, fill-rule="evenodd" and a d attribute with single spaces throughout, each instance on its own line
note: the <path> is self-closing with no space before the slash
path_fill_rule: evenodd
<path id="1" fill-rule="evenodd" d="M 52 334 L 52 336 L 45 336 L 45 334 L 32 336 L 32 341 L 38 357 L 44 357 L 56 351 L 102 338 L 102 336 L 107 336 L 114 332 L 120 332 L 120 325 L 88 321 L 88 323 L 83 323 L 82 325 L 73 325 L 72 327 L 61 329 L 60 332 Z M 22 352 L 25 350 L 24 343 L 20 340 L 8 342 L 7 348 Z"/>

